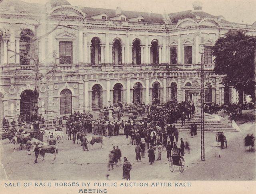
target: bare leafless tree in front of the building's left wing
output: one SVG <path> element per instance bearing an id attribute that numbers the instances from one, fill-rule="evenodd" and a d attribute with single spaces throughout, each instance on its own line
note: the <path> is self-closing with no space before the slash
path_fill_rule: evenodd
<path id="1" fill-rule="evenodd" d="M 27 23 L 27 25 L 31 25 L 32 27 L 34 27 L 34 32 L 26 31 L 26 29 L 20 29 L 20 30 L 23 32 L 23 36 L 30 40 L 29 43 L 26 43 L 26 45 L 29 45 L 30 47 L 32 47 L 31 51 L 27 52 L 25 50 L 17 53 L 15 50 L 10 49 L 9 47 L 7 48 L 7 51 L 10 51 L 11 53 L 13 53 L 12 57 L 14 57 L 15 55 L 20 55 L 20 57 L 24 61 L 29 61 L 28 63 L 31 63 L 31 65 L 34 66 L 33 69 L 27 69 L 33 72 L 31 74 L 16 70 L 15 75 L 22 80 L 28 80 L 29 78 L 32 78 L 34 80 L 34 92 L 32 96 L 32 98 L 34 99 L 33 114 L 35 117 L 37 117 L 38 109 L 40 108 L 38 105 L 39 94 L 40 94 L 40 91 L 39 91 L 40 84 L 42 83 L 43 78 L 44 78 L 44 82 L 48 83 L 49 78 L 52 77 L 57 70 L 56 56 L 52 56 L 55 59 L 55 63 L 52 69 L 47 69 L 46 71 L 42 70 L 43 68 L 41 68 L 41 62 L 39 61 L 39 49 L 40 49 L 39 41 L 43 38 L 46 38 L 48 35 L 50 35 L 57 29 L 62 29 L 62 28 L 73 29 L 74 27 L 68 24 L 68 22 L 66 21 L 66 16 L 64 16 L 63 14 L 62 18 L 60 18 L 58 22 L 54 24 L 54 27 L 52 27 L 52 29 L 49 29 L 49 31 L 47 31 L 46 33 L 41 34 L 39 33 L 40 31 L 39 27 L 45 22 L 45 18 L 44 18 L 45 16 L 32 17 L 28 13 L 27 15 L 32 21 L 31 23 Z M 1 41 L 5 41 L 6 44 L 8 45 L 8 41 L 9 41 L 8 37 L 10 37 L 9 31 L 0 29 L 0 43 Z M 48 86 L 46 86 L 46 88 L 48 88 Z M 46 92 L 48 92 L 47 89 L 46 89 Z"/>

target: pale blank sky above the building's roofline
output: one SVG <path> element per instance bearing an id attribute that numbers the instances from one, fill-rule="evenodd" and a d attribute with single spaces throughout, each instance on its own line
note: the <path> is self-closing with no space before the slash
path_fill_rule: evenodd
<path id="1" fill-rule="evenodd" d="M 23 0 L 31 3 L 46 3 L 48 0 Z M 256 21 L 256 0 L 200 0 L 202 9 L 214 16 L 239 24 Z M 73 6 L 153 12 L 162 14 L 192 10 L 194 0 L 68 0 Z"/>

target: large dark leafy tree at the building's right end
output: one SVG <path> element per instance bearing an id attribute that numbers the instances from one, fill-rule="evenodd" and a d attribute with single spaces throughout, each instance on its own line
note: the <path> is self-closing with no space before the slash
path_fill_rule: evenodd
<path id="1" fill-rule="evenodd" d="M 256 37 L 246 35 L 242 30 L 230 30 L 216 41 L 212 49 L 216 57 L 214 70 L 226 74 L 222 80 L 224 86 L 234 86 L 255 99 Z"/>

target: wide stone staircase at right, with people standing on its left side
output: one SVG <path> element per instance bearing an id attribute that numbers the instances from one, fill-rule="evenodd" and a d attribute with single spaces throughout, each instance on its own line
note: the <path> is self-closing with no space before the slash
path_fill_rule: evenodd
<path id="1" fill-rule="evenodd" d="M 196 123 L 198 132 L 200 132 L 201 130 L 200 114 L 195 114 L 194 116 L 192 116 L 190 121 L 186 119 L 185 126 L 181 126 L 181 123 L 181 120 L 178 120 L 178 122 L 175 123 L 178 131 L 190 131 L 190 125 L 192 123 Z M 236 131 L 236 129 L 224 125 L 220 121 L 216 120 L 214 115 L 204 114 L 204 131 Z"/>

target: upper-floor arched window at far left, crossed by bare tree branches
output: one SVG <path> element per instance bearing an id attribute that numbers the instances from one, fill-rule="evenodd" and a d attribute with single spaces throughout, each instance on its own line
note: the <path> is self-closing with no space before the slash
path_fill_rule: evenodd
<path id="1" fill-rule="evenodd" d="M 34 33 L 24 29 L 20 33 L 20 65 L 34 64 Z"/>

